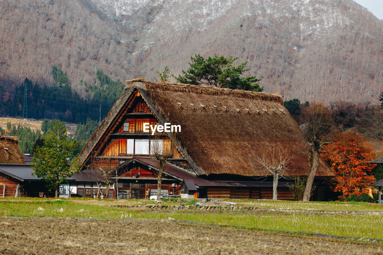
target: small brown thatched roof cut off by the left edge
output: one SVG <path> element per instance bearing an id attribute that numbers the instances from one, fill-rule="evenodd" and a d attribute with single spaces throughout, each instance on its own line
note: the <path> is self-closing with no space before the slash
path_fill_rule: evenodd
<path id="1" fill-rule="evenodd" d="M 25 164 L 15 136 L 0 136 L 0 164 Z"/>

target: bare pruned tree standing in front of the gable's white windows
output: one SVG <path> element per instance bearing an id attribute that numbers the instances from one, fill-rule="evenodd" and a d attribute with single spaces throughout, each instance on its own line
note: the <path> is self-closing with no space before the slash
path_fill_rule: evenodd
<path id="1" fill-rule="evenodd" d="M 164 147 L 164 140 L 160 134 L 155 134 L 151 139 L 150 153 L 152 157 L 159 162 L 158 170 L 154 170 L 157 178 L 157 200 L 161 200 L 161 184 L 162 184 L 162 172 L 169 159 L 173 157 L 173 143 L 170 142 L 170 147 Z"/>

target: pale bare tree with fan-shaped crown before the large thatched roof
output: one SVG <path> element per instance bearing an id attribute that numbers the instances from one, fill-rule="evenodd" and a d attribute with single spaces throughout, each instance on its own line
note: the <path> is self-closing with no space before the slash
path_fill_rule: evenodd
<path id="1" fill-rule="evenodd" d="M 288 164 L 291 163 L 294 154 L 282 144 L 274 144 L 264 150 L 264 152 L 255 159 L 255 167 L 259 168 L 264 177 L 273 176 L 273 200 L 278 198 L 278 180 L 290 175 Z"/>

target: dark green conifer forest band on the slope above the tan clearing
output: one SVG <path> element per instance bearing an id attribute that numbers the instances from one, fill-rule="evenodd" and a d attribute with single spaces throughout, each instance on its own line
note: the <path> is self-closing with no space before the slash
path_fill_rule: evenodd
<path id="1" fill-rule="evenodd" d="M 25 78 L 23 84 L 15 88 L 15 95 L 5 97 L 6 100 L 0 102 L 0 113 L 7 116 L 23 116 L 26 87 L 28 118 L 85 123 L 88 118 L 99 120 L 100 104 L 103 119 L 124 88 L 121 81 L 113 81 L 102 70 L 98 70 L 93 84 L 80 80 L 81 85 L 85 85 L 88 95 L 87 98 L 82 98 L 77 92 L 72 91 L 66 72 L 53 66 L 52 77 L 55 82 L 49 87 L 33 84 L 33 81 Z M 0 94 L 6 93 L 0 86 Z"/>

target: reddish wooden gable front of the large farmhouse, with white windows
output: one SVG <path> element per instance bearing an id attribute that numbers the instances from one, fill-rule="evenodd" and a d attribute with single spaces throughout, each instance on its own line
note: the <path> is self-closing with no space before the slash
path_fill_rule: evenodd
<path id="1" fill-rule="evenodd" d="M 109 198 L 118 196 L 118 198 L 144 199 L 157 195 L 158 176 L 153 166 L 138 164 L 131 160 L 134 157 L 150 157 L 153 154 L 154 143 L 162 149 L 162 154 L 173 153 L 169 163 L 186 172 L 192 172 L 190 164 L 164 132 L 155 132 L 154 136 L 152 131 L 144 132 L 144 123 L 152 126 L 160 123 L 139 92 L 132 93 L 122 109 L 99 144 L 93 148 L 86 167 L 92 171 L 95 167 L 118 166 L 118 178 L 115 185 L 110 188 Z M 128 161 L 129 164 L 125 163 Z M 80 181 L 80 186 L 76 182 L 78 176 L 75 174 L 72 177 L 73 181 L 68 190 L 72 188 L 73 195 L 77 196 L 97 195 L 97 180 L 92 179 L 92 174 L 88 174 L 85 181 Z M 84 175 L 80 179 L 83 180 L 83 177 Z M 181 180 L 164 173 L 161 195 L 179 195 L 180 182 Z"/>

